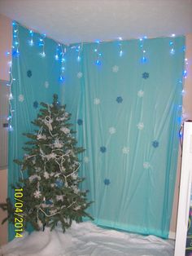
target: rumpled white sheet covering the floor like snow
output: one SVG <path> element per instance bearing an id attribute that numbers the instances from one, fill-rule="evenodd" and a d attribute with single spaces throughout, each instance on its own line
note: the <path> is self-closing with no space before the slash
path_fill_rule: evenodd
<path id="1" fill-rule="evenodd" d="M 2 246 L 3 256 L 172 256 L 174 245 L 156 236 L 140 236 L 103 229 L 93 223 L 72 223 L 63 233 L 57 227 L 50 232 L 24 233 Z"/>

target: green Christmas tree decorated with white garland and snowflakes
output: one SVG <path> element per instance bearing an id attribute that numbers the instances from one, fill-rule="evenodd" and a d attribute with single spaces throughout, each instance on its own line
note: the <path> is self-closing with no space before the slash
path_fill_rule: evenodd
<path id="1" fill-rule="evenodd" d="M 52 230 L 60 222 L 64 232 L 72 220 L 78 223 L 83 216 L 92 218 L 85 212 L 91 204 L 86 201 L 88 191 L 78 188 L 84 179 L 78 177 L 81 165 L 77 154 L 84 149 L 76 147 L 75 131 L 68 123 L 71 114 L 66 112 L 65 105 L 59 105 L 58 96 L 54 95 L 53 104 L 41 103 L 41 106 L 37 119 L 32 121 L 38 130 L 24 134 L 30 139 L 24 147 L 27 153 L 22 161 L 15 160 L 21 173 L 28 173 L 28 178 L 20 179 L 24 227 L 31 223 L 36 230 L 45 226 Z M 13 222 L 11 202 L 8 200 L 2 208 Z"/>

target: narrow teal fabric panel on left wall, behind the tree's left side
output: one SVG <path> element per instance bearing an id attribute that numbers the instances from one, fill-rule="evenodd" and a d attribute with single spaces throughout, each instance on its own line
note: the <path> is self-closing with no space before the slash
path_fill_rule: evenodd
<path id="1" fill-rule="evenodd" d="M 12 76 L 15 78 L 12 84 L 11 100 L 15 110 L 12 118 L 13 131 L 9 133 L 9 171 L 8 183 L 15 183 L 20 178 L 20 169 L 13 163 L 13 159 L 21 159 L 24 151 L 21 149 L 26 141 L 22 135 L 24 132 L 33 131 L 31 121 L 37 117 L 41 101 L 50 103 L 52 95 L 59 93 L 60 63 L 55 61 L 55 49 L 57 43 L 45 38 L 46 56 L 41 57 L 41 46 L 38 46 L 41 35 L 33 34 L 34 46 L 29 46 L 29 31 L 18 25 L 19 38 L 14 42 L 20 42 L 20 55 L 15 51 L 12 57 Z M 14 191 L 8 188 L 8 196 L 14 199 Z M 9 225 L 9 240 L 15 236 L 13 225 Z"/>

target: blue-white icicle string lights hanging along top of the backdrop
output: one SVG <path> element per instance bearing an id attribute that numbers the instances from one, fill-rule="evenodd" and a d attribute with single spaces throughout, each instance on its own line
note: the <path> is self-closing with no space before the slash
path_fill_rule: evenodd
<path id="1" fill-rule="evenodd" d="M 17 24 L 15 21 L 12 22 L 12 28 L 13 28 L 13 39 L 12 39 L 12 51 L 9 52 L 7 51 L 7 55 L 12 55 L 12 57 L 20 57 L 20 36 L 19 36 L 19 24 Z M 40 52 L 39 55 L 41 58 L 46 58 L 46 34 L 38 34 L 38 42 L 35 42 L 34 39 L 34 32 L 31 29 L 28 29 L 28 46 L 39 46 Z M 168 46 L 168 51 L 170 55 L 175 55 L 176 54 L 176 50 L 175 50 L 175 42 L 174 42 L 174 38 L 176 37 L 175 34 L 172 34 L 170 37 L 170 41 L 169 41 L 169 46 Z M 138 39 L 138 46 L 141 49 L 141 55 L 142 58 L 140 61 L 141 64 L 146 64 L 148 62 L 148 57 L 147 57 L 147 51 L 146 51 L 146 39 L 147 37 L 144 36 L 142 38 Z M 123 44 L 123 38 L 117 38 L 117 52 L 118 55 L 121 57 L 123 57 L 124 55 L 124 44 Z M 94 56 L 95 56 L 95 61 L 94 64 L 97 66 L 101 66 L 103 63 L 103 54 L 101 51 L 101 41 L 96 40 L 95 44 L 94 44 Z M 55 61 L 58 61 L 60 63 L 60 75 L 59 75 L 59 82 L 64 83 L 65 82 L 65 69 L 66 69 L 66 54 L 67 54 L 67 49 L 75 49 L 76 51 L 76 61 L 77 62 L 81 62 L 81 58 L 82 58 L 82 51 L 83 51 L 83 46 L 84 43 L 81 42 L 80 44 L 74 46 L 65 46 L 62 43 L 57 43 L 56 49 L 55 49 L 55 55 L 53 56 L 53 58 L 55 59 Z M 185 51 L 185 47 L 183 47 L 183 51 Z M 10 82 L 7 83 L 7 86 L 9 86 L 9 96 L 8 96 L 8 100 L 9 100 L 9 115 L 7 117 L 7 121 L 8 123 L 8 130 L 12 131 L 13 130 L 13 126 L 12 126 L 12 117 L 13 117 L 13 113 L 14 113 L 14 109 L 12 107 L 12 99 L 14 99 L 13 95 L 12 95 L 12 85 L 13 82 L 15 81 L 15 77 L 13 77 L 12 74 L 12 62 L 9 61 L 9 67 L 10 67 Z M 187 77 L 187 65 L 188 65 L 188 60 L 185 59 L 185 68 L 183 71 L 183 77 L 181 77 L 181 80 L 179 82 L 182 83 L 182 78 L 186 78 Z M 185 90 L 182 90 L 182 95 L 185 95 Z"/>

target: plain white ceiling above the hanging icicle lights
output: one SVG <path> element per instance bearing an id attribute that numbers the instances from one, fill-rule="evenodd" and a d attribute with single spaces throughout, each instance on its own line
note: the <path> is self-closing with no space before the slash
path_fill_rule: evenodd
<path id="1" fill-rule="evenodd" d="M 67 44 L 192 33 L 192 0 L 0 0 L 0 13 Z"/>

